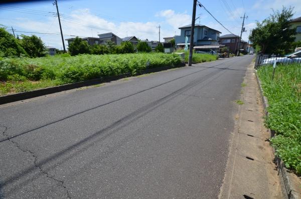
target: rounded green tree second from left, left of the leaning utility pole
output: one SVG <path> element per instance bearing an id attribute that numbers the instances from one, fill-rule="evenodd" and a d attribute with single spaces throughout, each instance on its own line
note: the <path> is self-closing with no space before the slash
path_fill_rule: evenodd
<path id="1" fill-rule="evenodd" d="M 47 54 L 45 44 L 35 35 L 22 35 L 21 46 L 30 57 L 44 57 Z"/>

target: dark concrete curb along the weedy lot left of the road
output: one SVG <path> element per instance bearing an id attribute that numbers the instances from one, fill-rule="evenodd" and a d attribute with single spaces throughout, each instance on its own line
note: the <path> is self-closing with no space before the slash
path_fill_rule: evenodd
<path id="1" fill-rule="evenodd" d="M 167 66 L 167 67 L 146 69 L 146 70 L 137 72 L 137 75 L 159 72 L 159 71 L 164 71 L 164 70 L 168 70 L 168 69 L 172 69 L 172 68 L 180 68 L 180 67 L 184 67 L 184 66 L 185 65 L 176 66 L 176 67 Z M 72 83 L 72 84 L 65 84 L 65 85 L 54 86 L 54 87 L 49 87 L 49 88 L 37 89 L 37 90 L 33 90 L 33 91 L 28 91 L 28 92 L 4 95 L 4 96 L 0 96 L 0 105 L 10 103 L 10 102 L 20 101 L 20 100 L 25 100 L 25 99 L 29 99 L 29 98 L 33 98 L 33 97 L 39 97 L 42 95 L 52 94 L 52 93 L 56 93 L 56 92 L 60 92 L 60 91 L 75 89 L 75 88 L 79 88 L 79 87 L 83 87 L 83 86 L 90 86 L 93 84 L 110 82 L 110 81 L 118 80 L 118 79 L 125 78 L 125 77 L 131 77 L 131 76 L 132 75 L 130 73 L 125 73 L 125 74 L 118 75 L 118 76 L 102 77 L 102 78 L 97 78 L 97 79 L 92 79 L 92 80 L 87 80 L 87 81 L 82 81 L 82 82 L 76 82 L 76 83 Z"/>

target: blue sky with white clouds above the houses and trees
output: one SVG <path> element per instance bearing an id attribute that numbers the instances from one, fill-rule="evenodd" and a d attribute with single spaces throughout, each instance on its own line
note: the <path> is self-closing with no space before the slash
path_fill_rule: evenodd
<path id="1" fill-rule="evenodd" d="M 59 35 L 58 18 L 55 16 L 54 1 L 34 1 L 18 4 L 0 4 L 0 24 L 11 26 L 16 34 L 31 35 L 21 32 L 38 32 L 47 46 L 62 48 Z M 301 16 L 300 0 L 216 0 L 200 1 L 211 14 L 227 29 L 239 35 L 242 19 L 247 32 L 242 38 L 248 40 L 249 31 L 256 26 L 256 21 L 262 21 L 282 6 L 294 7 L 294 17 Z M 179 35 L 181 26 L 191 24 L 193 1 L 68 1 L 58 0 L 64 39 L 71 35 L 81 37 L 97 37 L 97 34 L 112 32 L 123 38 L 136 36 L 139 39 L 159 40 L 159 25 L 161 26 L 161 41 L 164 37 Z M 221 35 L 229 34 L 204 9 L 197 8 L 196 22 L 219 30 Z M 21 31 L 21 32 L 17 32 Z M 65 41 L 65 44 L 67 42 Z"/>

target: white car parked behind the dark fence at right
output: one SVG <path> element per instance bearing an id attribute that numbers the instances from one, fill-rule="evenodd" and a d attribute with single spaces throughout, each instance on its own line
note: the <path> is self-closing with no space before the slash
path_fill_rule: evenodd
<path id="1" fill-rule="evenodd" d="M 275 61 L 276 63 L 282 63 L 282 64 L 301 63 L 301 51 L 284 55 L 284 57 L 267 58 L 261 61 L 261 64 L 273 64 Z"/>

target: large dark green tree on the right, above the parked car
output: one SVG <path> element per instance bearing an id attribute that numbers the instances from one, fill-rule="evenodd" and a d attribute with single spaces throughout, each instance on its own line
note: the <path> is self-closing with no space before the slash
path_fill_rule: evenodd
<path id="1" fill-rule="evenodd" d="M 253 29 L 250 41 L 262 53 L 285 54 L 290 52 L 294 41 L 295 29 L 291 29 L 292 8 L 282 8 L 281 12 L 273 12 L 270 17 L 257 22 Z"/>

